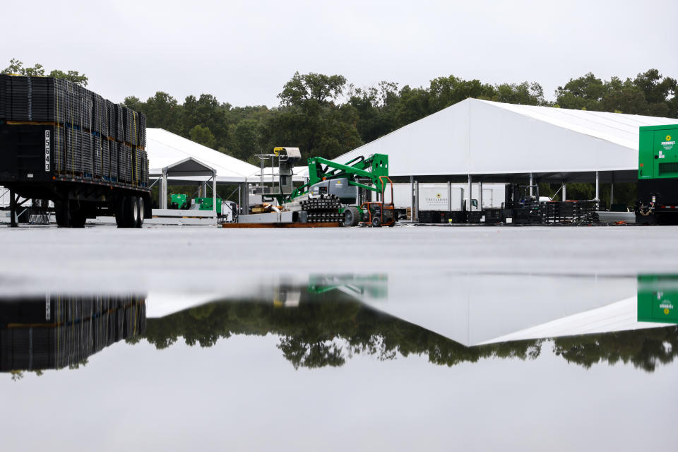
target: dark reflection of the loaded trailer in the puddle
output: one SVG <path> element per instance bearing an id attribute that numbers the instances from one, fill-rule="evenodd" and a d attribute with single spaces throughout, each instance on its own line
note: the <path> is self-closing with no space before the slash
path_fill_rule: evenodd
<path id="1" fill-rule="evenodd" d="M 143 297 L 0 299 L 0 371 L 77 368 L 88 357 L 145 330 Z"/>

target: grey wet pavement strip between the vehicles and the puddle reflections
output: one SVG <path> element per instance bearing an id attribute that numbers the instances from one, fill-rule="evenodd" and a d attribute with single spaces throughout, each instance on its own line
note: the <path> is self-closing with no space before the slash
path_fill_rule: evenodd
<path id="1" fill-rule="evenodd" d="M 678 227 L 0 227 L 0 246 L 4 292 L 218 290 L 309 273 L 678 273 Z"/>

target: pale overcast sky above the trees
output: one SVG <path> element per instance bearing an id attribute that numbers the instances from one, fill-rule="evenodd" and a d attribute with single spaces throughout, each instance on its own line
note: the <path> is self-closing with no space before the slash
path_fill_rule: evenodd
<path id="1" fill-rule="evenodd" d="M 70 3 L 69 6 L 64 4 Z M 119 102 L 157 90 L 278 105 L 295 71 L 357 86 L 454 74 L 537 81 L 547 98 L 593 71 L 678 77 L 678 1 L 5 2 L 0 65 L 73 69 Z M 7 20 L 10 18 L 10 20 Z"/>

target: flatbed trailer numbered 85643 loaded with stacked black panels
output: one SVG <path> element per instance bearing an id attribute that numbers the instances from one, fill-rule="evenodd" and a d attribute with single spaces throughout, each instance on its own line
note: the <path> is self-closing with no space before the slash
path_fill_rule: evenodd
<path id="1" fill-rule="evenodd" d="M 141 227 L 151 215 L 145 117 L 67 81 L 0 76 L 0 186 L 13 226 L 32 200 L 42 213 L 52 201 L 61 227 L 98 215 Z"/>

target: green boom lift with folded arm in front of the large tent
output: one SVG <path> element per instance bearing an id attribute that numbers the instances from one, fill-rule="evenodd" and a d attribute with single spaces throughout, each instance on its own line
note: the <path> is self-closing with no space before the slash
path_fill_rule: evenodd
<path id="1" fill-rule="evenodd" d="M 344 225 L 393 226 L 396 211 L 393 208 L 393 182 L 388 178 L 388 155 L 374 154 L 356 157 L 345 164 L 323 157 L 311 157 L 309 183 L 292 191 L 285 202 L 301 201 L 316 196 L 335 196 L 343 207 Z M 386 200 L 387 188 L 390 198 Z M 359 193 L 374 191 L 377 201 L 359 201 Z"/>

